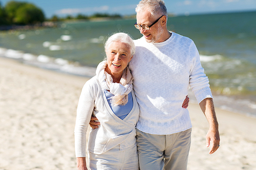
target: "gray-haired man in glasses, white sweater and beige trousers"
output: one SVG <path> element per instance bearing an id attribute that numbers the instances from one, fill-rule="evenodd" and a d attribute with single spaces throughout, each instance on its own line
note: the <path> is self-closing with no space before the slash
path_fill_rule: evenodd
<path id="1" fill-rule="evenodd" d="M 162 0 L 142 0 L 136 12 L 135 27 L 143 37 L 134 41 L 136 53 L 129 67 L 140 107 L 136 126 L 140 169 L 186 169 L 192 126 L 188 110 L 180 106 L 189 86 L 209 122 L 209 154 L 220 146 L 209 81 L 195 43 L 167 30 Z"/>

